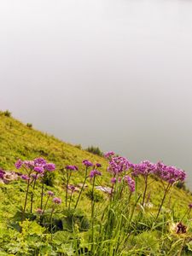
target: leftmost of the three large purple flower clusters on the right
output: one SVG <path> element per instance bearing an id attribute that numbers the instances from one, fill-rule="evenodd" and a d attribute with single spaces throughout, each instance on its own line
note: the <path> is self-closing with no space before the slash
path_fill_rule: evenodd
<path id="1" fill-rule="evenodd" d="M 108 172 L 113 173 L 114 175 L 119 174 L 120 172 L 125 172 L 129 170 L 133 165 L 129 160 L 122 156 L 115 156 L 109 160 Z"/>

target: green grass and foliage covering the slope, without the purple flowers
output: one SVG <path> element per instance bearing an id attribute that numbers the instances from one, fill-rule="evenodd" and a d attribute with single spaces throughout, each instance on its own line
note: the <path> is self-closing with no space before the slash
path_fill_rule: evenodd
<path id="1" fill-rule="evenodd" d="M 113 148 L 112 148 L 113 149 Z M 163 195 L 161 183 L 150 177 L 147 197 L 153 206 L 143 208 L 135 204 L 139 193 L 143 191 L 143 179 L 138 179 L 137 192 L 131 196 L 127 207 L 127 195 L 123 199 L 116 199 L 109 203 L 108 195 L 91 189 L 90 179 L 87 180 L 88 189 L 82 194 L 77 211 L 73 212 L 73 206 L 78 197 L 75 193 L 72 201 L 72 210 L 67 211 L 64 207 L 65 201 L 65 170 L 64 166 L 79 166 L 79 172 L 72 175 L 70 183 L 78 184 L 84 181 L 84 166 L 82 160 L 88 159 L 92 162 L 102 164 L 102 177 L 96 178 L 96 185 L 111 186 L 110 175 L 106 171 L 108 162 L 96 155 L 79 149 L 69 143 L 64 143 L 57 138 L 44 132 L 37 131 L 29 125 L 12 118 L 9 114 L 0 112 L 0 168 L 5 171 L 16 171 L 15 161 L 33 160 L 43 157 L 49 162 L 55 163 L 56 172 L 53 187 L 45 186 L 45 190 L 53 190 L 55 195 L 60 196 L 63 203 L 55 218 L 62 219 L 64 230 L 57 230 L 53 235 L 46 232 L 46 229 L 30 220 L 24 221 L 20 226 L 22 231 L 18 232 L 20 217 L 19 209 L 23 206 L 26 193 L 26 183 L 22 180 L 13 181 L 9 184 L 0 184 L 0 256 L 1 255 L 191 255 L 192 244 L 192 216 L 184 218 L 188 225 L 186 235 L 178 236 L 171 230 L 182 218 L 184 212 L 192 202 L 192 195 L 189 191 L 172 188 L 170 195 L 160 213 L 158 223 L 155 223 L 154 216 L 160 205 Z M 174 164 L 174 163 L 173 163 Z M 100 182 L 99 182 L 100 181 Z M 34 209 L 39 207 L 38 185 Z M 91 206 L 94 204 L 94 241 L 99 246 L 90 243 Z M 51 208 L 49 202 L 48 208 Z M 133 215 L 131 211 L 134 209 Z M 17 216 L 15 213 L 17 212 Z M 103 221 L 102 221 L 102 215 Z M 15 216 L 15 217 L 14 217 Z M 131 221 L 130 219 L 131 218 Z M 38 219 L 38 218 L 37 218 Z M 82 222 L 82 219 L 84 220 Z M 74 221 L 74 223 L 73 223 Z M 111 222 L 111 224 L 110 224 Z M 128 234 L 128 235 L 127 235 Z M 76 249 L 75 249 L 76 248 Z M 79 252 L 81 248 L 81 252 Z M 191 250 L 190 250 L 191 248 Z M 85 249 L 92 252 L 86 254 Z M 76 254 L 74 253 L 76 250 Z M 93 250 L 95 254 L 93 253 Z M 77 254 L 77 252 L 79 252 Z M 116 254 L 113 254 L 116 252 Z M 180 254 L 179 254 L 180 253 Z"/>

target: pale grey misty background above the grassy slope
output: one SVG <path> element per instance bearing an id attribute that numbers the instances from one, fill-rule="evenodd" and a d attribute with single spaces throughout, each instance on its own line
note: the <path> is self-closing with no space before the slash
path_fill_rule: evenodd
<path id="1" fill-rule="evenodd" d="M 83 148 L 183 168 L 192 1 L 0 0 L 0 108 Z"/>

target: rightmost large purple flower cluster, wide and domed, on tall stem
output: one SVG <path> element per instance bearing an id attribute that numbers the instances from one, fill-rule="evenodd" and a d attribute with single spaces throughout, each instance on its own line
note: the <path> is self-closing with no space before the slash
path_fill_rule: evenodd
<path id="1" fill-rule="evenodd" d="M 162 162 L 156 164 L 156 170 L 154 172 L 160 179 L 168 182 L 175 183 L 177 181 L 183 182 L 186 174 L 183 170 L 178 169 L 175 166 L 166 166 Z"/>

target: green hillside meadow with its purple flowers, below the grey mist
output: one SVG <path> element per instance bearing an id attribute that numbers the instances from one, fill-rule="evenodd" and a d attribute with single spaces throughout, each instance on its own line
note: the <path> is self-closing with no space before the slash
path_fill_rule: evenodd
<path id="1" fill-rule="evenodd" d="M 3 112 L 0 152 L 0 256 L 192 254 L 183 170 L 90 154 Z"/>

